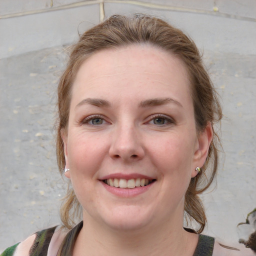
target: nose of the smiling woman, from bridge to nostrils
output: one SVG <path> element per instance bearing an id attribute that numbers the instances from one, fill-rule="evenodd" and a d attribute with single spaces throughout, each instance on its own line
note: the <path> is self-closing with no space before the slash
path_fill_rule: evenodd
<path id="1" fill-rule="evenodd" d="M 111 158 L 120 158 L 124 161 L 142 159 L 145 155 L 142 138 L 135 125 L 120 125 L 113 130 L 109 148 Z"/>

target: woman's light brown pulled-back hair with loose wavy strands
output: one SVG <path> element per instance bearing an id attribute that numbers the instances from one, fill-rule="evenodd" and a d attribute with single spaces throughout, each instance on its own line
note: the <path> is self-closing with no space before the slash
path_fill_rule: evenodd
<path id="1" fill-rule="evenodd" d="M 61 133 L 67 128 L 72 83 L 81 63 L 99 50 L 125 47 L 131 44 L 149 44 L 183 61 L 190 78 L 198 134 L 204 130 L 208 122 L 214 124 L 221 119 L 221 107 L 216 91 L 195 43 L 187 35 L 157 17 L 144 14 L 112 15 L 79 36 L 78 42 L 72 46 L 67 66 L 58 83 L 56 153 L 61 174 L 65 166 Z M 209 187 L 216 174 L 218 144 L 219 139 L 213 129 L 213 139 L 206 161 L 202 166 L 202 172 L 191 178 L 185 193 L 184 217 L 187 223 L 188 220 L 197 222 L 199 228 L 195 231 L 196 233 L 200 233 L 206 223 L 204 208 L 198 195 Z M 74 217 L 77 216 L 79 208 L 80 204 L 69 184 L 60 209 L 61 221 L 65 227 L 71 228 L 75 224 Z"/>

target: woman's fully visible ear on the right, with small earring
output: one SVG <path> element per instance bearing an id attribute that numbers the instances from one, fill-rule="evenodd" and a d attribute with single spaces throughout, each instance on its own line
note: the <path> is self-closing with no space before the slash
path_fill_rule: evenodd
<path id="1" fill-rule="evenodd" d="M 209 146 L 212 140 L 213 131 L 212 126 L 210 122 L 207 122 L 206 127 L 204 130 L 200 131 L 200 133 L 197 136 L 197 141 L 195 144 L 195 150 L 194 150 L 194 157 L 193 157 L 193 169 L 191 172 L 191 177 L 195 177 L 197 174 L 197 171 L 195 170 L 195 167 L 201 167 L 208 155 Z"/>

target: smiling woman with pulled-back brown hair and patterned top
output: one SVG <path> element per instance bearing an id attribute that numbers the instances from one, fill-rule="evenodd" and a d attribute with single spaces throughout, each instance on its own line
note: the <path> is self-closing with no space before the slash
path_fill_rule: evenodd
<path id="1" fill-rule="evenodd" d="M 86 31 L 60 78 L 58 113 L 58 166 L 71 181 L 63 227 L 2 255 L 252 255 L 199 234 L 221 108 L 183 32 L 145 15 Z"/>

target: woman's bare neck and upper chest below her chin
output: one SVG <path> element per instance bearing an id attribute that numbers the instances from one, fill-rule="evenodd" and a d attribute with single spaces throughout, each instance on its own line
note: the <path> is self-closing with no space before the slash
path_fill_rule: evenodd
<path id="1" fill-rule="evenodd" d="M 198 240 L 196 234 L 186 232 L 182 224 L 177 225 L 177 221 L 137 230 L 116 230 L 94 223 L 87 216 L 86 219 L 75 242 L 73 255 L 190 256 Z"/>

